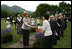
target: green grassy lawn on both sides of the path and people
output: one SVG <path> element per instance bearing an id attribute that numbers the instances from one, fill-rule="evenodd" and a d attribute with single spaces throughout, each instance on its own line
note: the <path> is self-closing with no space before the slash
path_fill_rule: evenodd
<path id="1" fill-rule="evenodd" d="M 36 19 L 35 19 L 36 21 Z M 41 21 L 42 24 L 42 21 Z M 1 30 L 6 29 L 6 23 L 4 20 L 1 20 Z M 13 41 L 1 44 L 1 48 L 4 48 L 12 43 L 15 43 L 19 41 L 19 35 L 16 33 L 15 25 L 13 24 L 11 26 L 12 35 L 13 35 Z M 33 35 L 34 33 L 30 33 L 30 35 Z M 71 22 L 67 23 L 67 28 L 64 31 L 64 38 L 61 38 L 61 40 L 58 41 L 57 46 L 54 46 L 54 48 L 71 48 Z"/>

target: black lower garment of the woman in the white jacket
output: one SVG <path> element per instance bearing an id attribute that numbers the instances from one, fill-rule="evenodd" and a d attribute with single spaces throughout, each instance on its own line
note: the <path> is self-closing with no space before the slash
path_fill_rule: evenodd
<path id="1" fill-rule="evenodd" d="M 44 37 L 44 48 L 53 48 L 53 36 Z"/>

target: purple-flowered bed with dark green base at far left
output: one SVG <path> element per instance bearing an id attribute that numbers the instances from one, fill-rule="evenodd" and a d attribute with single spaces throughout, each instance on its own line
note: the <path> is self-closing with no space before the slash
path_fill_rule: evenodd
<path id="1" fill-rule="evenodd" d="M 1 31 L 1 44 L 12 41 L 11 29 Z"/>

